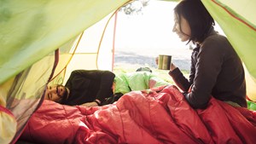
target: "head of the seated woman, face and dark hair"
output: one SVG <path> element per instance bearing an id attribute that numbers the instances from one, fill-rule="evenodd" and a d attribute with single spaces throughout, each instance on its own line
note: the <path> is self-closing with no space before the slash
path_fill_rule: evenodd
<path id="1" fill-rule="evenodd" d="M 183 0 L 178 3 L 174 8 L 174 20 L 172 31 L 176 32 L 183 42 L 203 42 L 209 29 L 215 25 L 201 0 Z"/>

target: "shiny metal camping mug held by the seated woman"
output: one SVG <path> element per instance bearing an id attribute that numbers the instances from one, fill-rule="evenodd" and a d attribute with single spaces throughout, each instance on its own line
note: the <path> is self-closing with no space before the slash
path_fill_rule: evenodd
<path id="1" fill-rule="evenodd" d="M 170 70 L 172 64 L 172 55 L 159 55 L 158 57 L 158 69 Z"/>

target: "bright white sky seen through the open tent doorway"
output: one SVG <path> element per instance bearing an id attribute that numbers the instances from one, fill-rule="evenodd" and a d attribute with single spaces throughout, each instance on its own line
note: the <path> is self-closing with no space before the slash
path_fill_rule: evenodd
<path id="1" fill-rule="evenodd" d="M 166 51 L 166 49 L 170 49 L 172 51 L 174 49 L 188 49 L 189 45 L 182 43 L 177 34 L 172 32 L 173 9 L 176 4 L 176 2 L 151 0 L 140 14 L 126 15 L 119 12 L 115 50 L 127 49 L 129 51 L 130 49 L 137 49 L 138 52 L 143 52 L 144 50 L 163 49 Z M 215 29 L 224 34 L 218 24 Z M 106 34 L 104 39 L 108 37 L 113 37 L 112 33 Z M 90 43 L 97 42 L 90 40 Z M 80 47 L 78 52 L 84 52 L 84 48 Z M 151 56 L 156 55 L 157 53 L 154 53 Z"/>

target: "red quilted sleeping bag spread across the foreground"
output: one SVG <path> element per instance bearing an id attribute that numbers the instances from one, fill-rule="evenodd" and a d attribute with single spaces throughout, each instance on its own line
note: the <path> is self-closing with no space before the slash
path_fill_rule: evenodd
<path id="1" fill-rule="evenodd" d="M 104 107 L 44 101 L 20 138 L 41 143 L 253 143 L 255 134 L 255 111 L 214 98 L 207 109 L 195 110 L 170 85 L 132 91 Z"/>

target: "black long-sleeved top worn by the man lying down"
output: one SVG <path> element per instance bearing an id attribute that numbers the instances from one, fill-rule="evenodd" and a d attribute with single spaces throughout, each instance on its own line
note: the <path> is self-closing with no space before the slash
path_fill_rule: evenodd
<path id="1" fill-rule="evenodd" d="M 63 104 L 74 106 L 100 100 L 113 95 L 113 72 L 101 70 L 75 70 L 67 79 L 65 86 L 70 95 Z"/>

